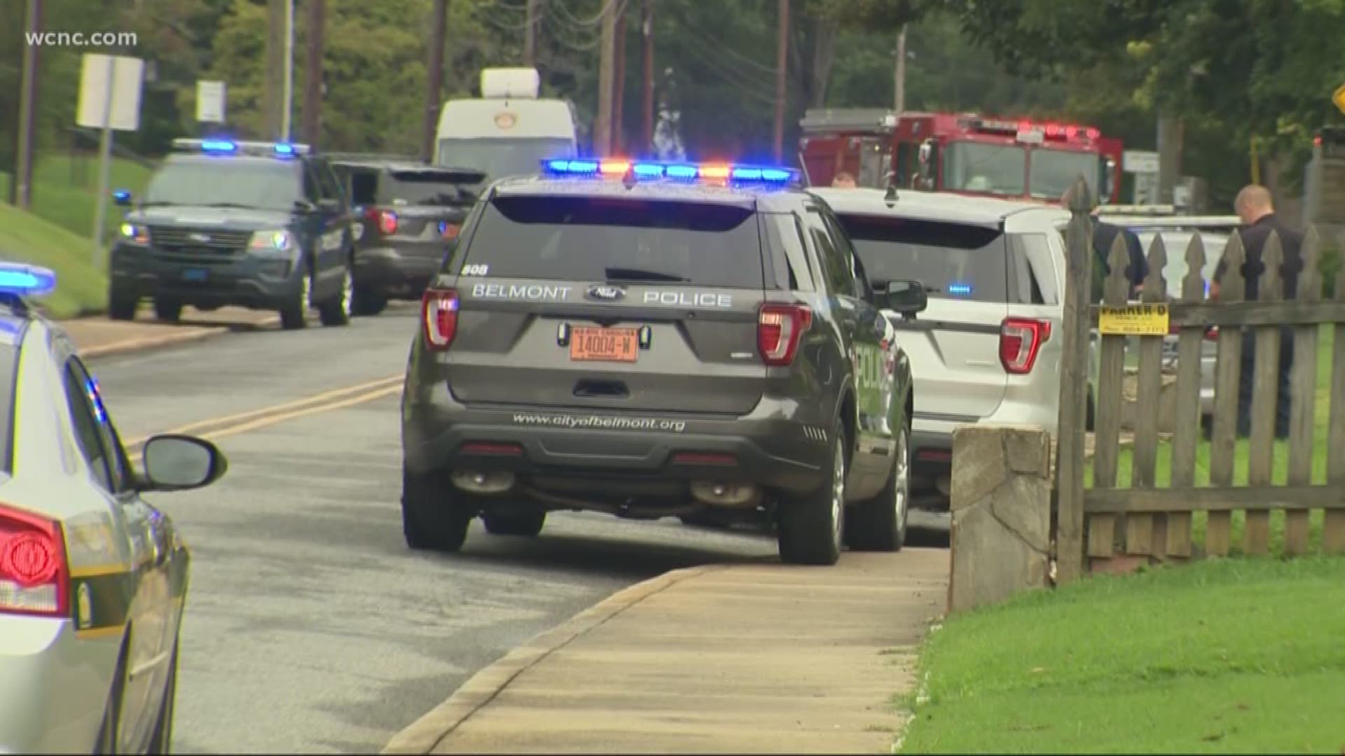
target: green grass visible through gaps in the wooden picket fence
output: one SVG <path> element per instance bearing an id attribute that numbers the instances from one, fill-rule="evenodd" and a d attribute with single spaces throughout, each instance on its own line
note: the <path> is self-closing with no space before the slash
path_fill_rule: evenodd
<path id="1" fill-rule="evenodd" d="M 1332 369 L 1332 346 L 1333 346 L 1333 327 L 1322 326 L 1317 338 L 1317 397 L 1315 397 L 1315 422 L 1313 428 L 1313 483 L 1325 484 L 1326 483 L 1326 433 L 1330 422 L 1330 369 Z M 1158 464 L 1154 469 L 1154 478 L 1158 487 L 1167 487 L 1171 484 L 1171 456 L 1173 447 L 1170 441 L 1158 443 Z M 1239 439 L 1237 445 L 1233 452 L 1233 484 L 1245 486 L 1247 484 L 1247 469 L 1248 469 L 1248 440 Z M 1134 469 L 1134 451 L 1130 447 L 1122 447 L 1120 453 L 1116 459 L 1116 486 L 1119 488 L 1127 488 L 1131 484 Z M 1283 486 L 1289 478 L 1289 441 L 1275 441 L 1274 460 L 1271 467 L 1271 479 L 1276 486 Z M 1084 469 L 1084 484 L 1093 484 L 1093 469 L 1092 460 L 1089 460 L 1087 468 Z M 1209 486 L 1209 441 L 1201 440 L 1196 448 L 1196 486 Z M 1192 539 L 1198 546 L 1204 543 L 1205 538 L 1205 513 L 1196 513 L 1192 523 Z M 1233 513 L 1232 515 L 1232 553 L 1241 553 L 1240 542 L 1243 533 L 1243 513 Z M 1274 553 L 1279 553 L 1283 545 L 1283 523 L 1284 513 L 1274 511 L 1271 513 L 1271 549 Z M 1311 533 L 1310 533 L 1310 546 L 1317 549 L 1321 543 L 1321 530 L 1322 530 L 1322 513 L 1314 511 L 1311 514 Z"/>

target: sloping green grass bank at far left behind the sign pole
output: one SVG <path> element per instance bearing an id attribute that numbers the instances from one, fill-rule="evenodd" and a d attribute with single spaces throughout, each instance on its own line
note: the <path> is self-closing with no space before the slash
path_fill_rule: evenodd
<path id="1" fill-rule="evenodd" d="M 56 273 L 56 291 L 38 299 L 51 317 L 102 312 L 108 277 L 93 265 L 93 218 L 98 161 L 91 157 L 47 156 L 34 171 L 32 213 L 0 202 L 0 257 L 42 265 Z M 149 172 L 128 160 L 112 164 L 112 187 L 143 192 Z M 8 196 L 9 175 L 0 174 L 0 196 Z M 122 209 L 108 203 L 105 239 L 121 225 Z"/>

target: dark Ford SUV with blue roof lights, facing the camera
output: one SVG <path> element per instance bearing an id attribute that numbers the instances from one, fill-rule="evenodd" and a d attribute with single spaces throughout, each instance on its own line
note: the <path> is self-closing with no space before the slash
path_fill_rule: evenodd
<path id="1" fill-rule="evenodd" d="M 141 297 L 175 322 L 183 305 L 280 312 L 303 328 L 350 322 L 351 215 L 331 167 L 307 145 L 188 140 L 125 215 L 109 265 L 108 311 L 130 320 Z M 118 204 L 133 203 L 118 191 Z"/>

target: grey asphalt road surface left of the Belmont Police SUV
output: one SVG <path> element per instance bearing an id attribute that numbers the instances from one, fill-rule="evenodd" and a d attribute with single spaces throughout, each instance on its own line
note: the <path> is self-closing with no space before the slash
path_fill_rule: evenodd
<path id="1" fill-rule="evenodd" d="M 93 359 L 118 430 L 145 436 L 399 374 L 414 311 Z M 542 538 L 473 525 L 461 554 L 406 549 L 398 397 L 219 439 L 229 474 L 148 498 L 192 553 L 180 753 L 370 753 L 483 666 L 670 569 L 773 558 L 772 538 L 551 515 Z"/>

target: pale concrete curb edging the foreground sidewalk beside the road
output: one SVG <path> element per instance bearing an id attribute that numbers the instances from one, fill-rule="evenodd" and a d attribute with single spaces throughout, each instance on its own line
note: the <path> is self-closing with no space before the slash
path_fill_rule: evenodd
<path id="1" fill-rule="evenodd" d="M 453 694 L 421 718 L 393 736 L 379 753 L 430 753 L 463 722 L 490 705 L 518 675 L 569 644 L 576 638 L 639 604 L 644 599 L 683 580 L 699 577 L 728 565 L 701 565 L 675 569 L 623 588 L 555 628 L 535 635 L 495 663 L 468 678 Z"/>

